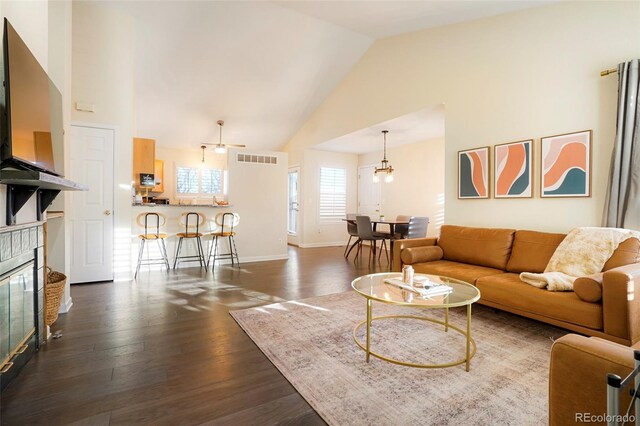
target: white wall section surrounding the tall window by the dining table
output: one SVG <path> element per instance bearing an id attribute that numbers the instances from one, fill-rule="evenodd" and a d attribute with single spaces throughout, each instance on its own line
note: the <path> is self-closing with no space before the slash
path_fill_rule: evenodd
<path id="1" fill-rule="evenodd" d="M 300 247 L 344 245 L 349 238 L 343 221 L 319 223 L 320 168 L 335 167 L 347 170 L 347 212 L 357 210 L 358 156 L 337 152 L 307 149 L 301 167 L 302 214 L 300 216 Z"/>

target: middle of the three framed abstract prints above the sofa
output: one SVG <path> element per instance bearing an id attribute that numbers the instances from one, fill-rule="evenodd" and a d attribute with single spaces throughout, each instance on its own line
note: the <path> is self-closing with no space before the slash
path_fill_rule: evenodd
<path id="1" fill-rule="evenodd" d="M 493 147 L 493 196 L 533 197 L 533 139 Z"/>

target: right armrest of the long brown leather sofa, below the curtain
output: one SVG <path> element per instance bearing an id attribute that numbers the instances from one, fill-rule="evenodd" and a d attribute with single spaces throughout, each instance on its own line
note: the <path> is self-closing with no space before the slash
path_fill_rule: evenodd
<path id="1" fill-rule="evenodd" d="M 608 270 L 602 275 L 604 332 L 640 341 L 640 263 Z"/>

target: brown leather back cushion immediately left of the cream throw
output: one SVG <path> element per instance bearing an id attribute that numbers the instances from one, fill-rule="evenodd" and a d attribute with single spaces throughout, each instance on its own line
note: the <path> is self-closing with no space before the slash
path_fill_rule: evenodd
<path id="1" fill-rule="evenodd" d="M 509 272 L 544 272 L 565 234 L 516 231 L 511 257 L 507 263 Z"/>

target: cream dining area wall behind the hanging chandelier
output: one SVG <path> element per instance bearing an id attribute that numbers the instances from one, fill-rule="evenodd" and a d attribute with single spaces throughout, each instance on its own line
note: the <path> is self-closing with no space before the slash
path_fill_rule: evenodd
<path id="1" fill-rule="evenodd" d="M 428 236 L 436 236 L 444 221 L 444 139 L 387 149 L 393 182 L 381 180 L 381 209 L 387 219 L 397 215 L 428 216 Z M 358 156 L 358 166 L 380 167 L 382 151 Z M 367 178 L 370 178 L 367 176 Z"/>

